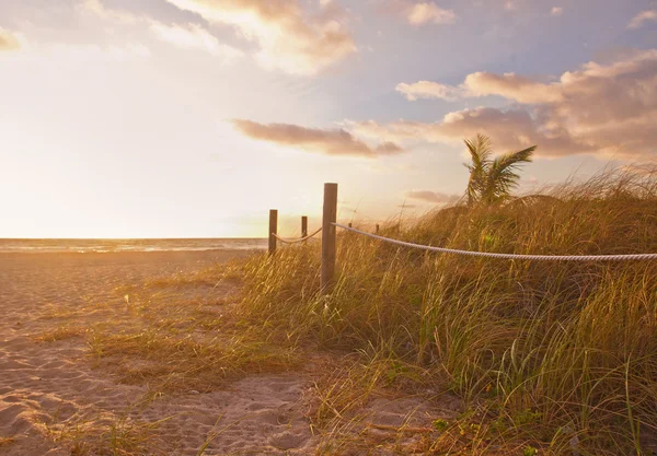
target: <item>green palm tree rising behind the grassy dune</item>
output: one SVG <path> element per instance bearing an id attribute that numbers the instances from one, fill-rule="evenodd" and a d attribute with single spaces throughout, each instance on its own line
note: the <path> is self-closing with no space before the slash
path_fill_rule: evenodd
<path id="1" fill-rule="evenodd" d="M 472 164 L 465 164 L 470 169 L 468 183 L 468 204 L 493 202 L 506 199 L 518 186 L 520 176 L 516 171 L 522 163 L 530 163 L 535 145 L 518 152 L 509 152 L 492 159 L 491 139 L 484 135 L 464 140 Z"/>

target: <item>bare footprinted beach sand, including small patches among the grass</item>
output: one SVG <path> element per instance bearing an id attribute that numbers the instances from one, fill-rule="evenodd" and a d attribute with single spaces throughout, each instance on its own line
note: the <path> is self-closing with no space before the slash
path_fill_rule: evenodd
<path id="1" fill-rule="evenodd" d="M 320 436 L 308 417 L 312 363 L 162 394 L 148 379 L 117 375 L 117 365 L 129 361 L 101 362 L 92 353 L 93 328 L 136 324 L 124 290 L 244 255 L 1 255 L 0 454 L 196 455 L 206 443 L 206 455 L 315 454 Z M 196 285 L 186 299 L 220 313 L 238 288 Z M 430 425 L 439 416 L 416 399 L 378 398 L 367 407 L 383 429 Z"/>

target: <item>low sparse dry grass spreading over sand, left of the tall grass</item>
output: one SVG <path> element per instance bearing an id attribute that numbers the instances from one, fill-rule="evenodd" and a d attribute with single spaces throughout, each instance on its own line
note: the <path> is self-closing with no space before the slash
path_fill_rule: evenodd
<path id="1" fill-rule="evenodd" d="M 216 272 L 205 271 L 208 277 Z M 124 295 L 129 317 L 94 326 L 87 337 L 90 353 L 120 382 L 160 390 L 208 390 L 227 379 L 297 365 L 293 344 L 269 343 L 262 327 L 235 313 L 235 296 L 226 297 L 232 283 L 204 279 L 199 285 L 173 278 L 130 290 Z"/>

